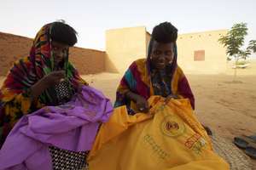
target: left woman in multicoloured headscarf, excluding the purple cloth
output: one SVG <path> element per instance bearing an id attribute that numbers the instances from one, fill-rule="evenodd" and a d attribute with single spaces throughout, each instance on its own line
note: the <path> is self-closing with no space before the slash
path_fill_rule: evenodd
<path id="1" fill-rule="evenodd" d="M 71 26 L 50 23 L 38 31 L 30 55 L 15 62 L 0 91 L 1 145 L 21 116 L 66 102 L 87 84 L 68 62 L 68 49 L 76 42 Z"/>

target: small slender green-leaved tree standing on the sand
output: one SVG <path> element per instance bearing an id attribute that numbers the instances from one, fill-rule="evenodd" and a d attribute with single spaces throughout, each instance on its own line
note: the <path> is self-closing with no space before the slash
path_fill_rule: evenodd
<path id="1" fill-rule="evenodd" d="M 247 36 L 247 30 L 247 23 L 235 24 L 231 27 L 230 31 L 228 31 L 225 36 L 222 36 L 218 39 L 218 42 L 220 42 L 222 45 L 224 45 L 225 48 L 227 48 L 227 59 L 234 58 L 236 60 L 236 67 L 234 71 L 235 78 L 238 59 L 247 59 L 252 52 L 256 52 L 255 40 L 251 40 L 245 50 L 241 49 L 244 44 L 245 36 Z"/>

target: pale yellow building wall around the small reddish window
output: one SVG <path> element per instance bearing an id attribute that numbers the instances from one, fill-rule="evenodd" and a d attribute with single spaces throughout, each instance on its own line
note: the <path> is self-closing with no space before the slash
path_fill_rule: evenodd
<path id="1" fill-rule="evenodd" d="M 220 30 L 179 35 L 177 62 L 183 71 L 190 74 L 225 73 L 227 56 L 218 38 L 226 33 L 227 30 Z M 195 51 L 204 51 L 204 59 L 196 61 Z"/>

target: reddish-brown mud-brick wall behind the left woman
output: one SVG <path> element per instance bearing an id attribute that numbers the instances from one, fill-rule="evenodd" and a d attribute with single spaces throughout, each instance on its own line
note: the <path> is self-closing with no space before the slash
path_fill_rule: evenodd
<path id="1" fill-rule="evenodd" d="M 6 76 L 16 59 L 27 56 L 32 47 L 32 38 L 0 32 L 0 76 Z M 105 71 L 106 53 L 94 49 L 71 48 L 70 60 L 80 74 Z"/>

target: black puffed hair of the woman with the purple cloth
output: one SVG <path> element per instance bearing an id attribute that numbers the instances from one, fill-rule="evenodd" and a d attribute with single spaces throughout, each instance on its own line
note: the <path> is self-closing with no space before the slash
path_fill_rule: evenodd
<path id="1" fill-rule="evenodd" d="M 76 42 L 78 42 L 77 31 L 75 31 L 73 27 L 68 26 L 61 21 L 52 23 L 49 37 L 55 42 L 61 42 L 69 46 L 73 46 Z"/>

